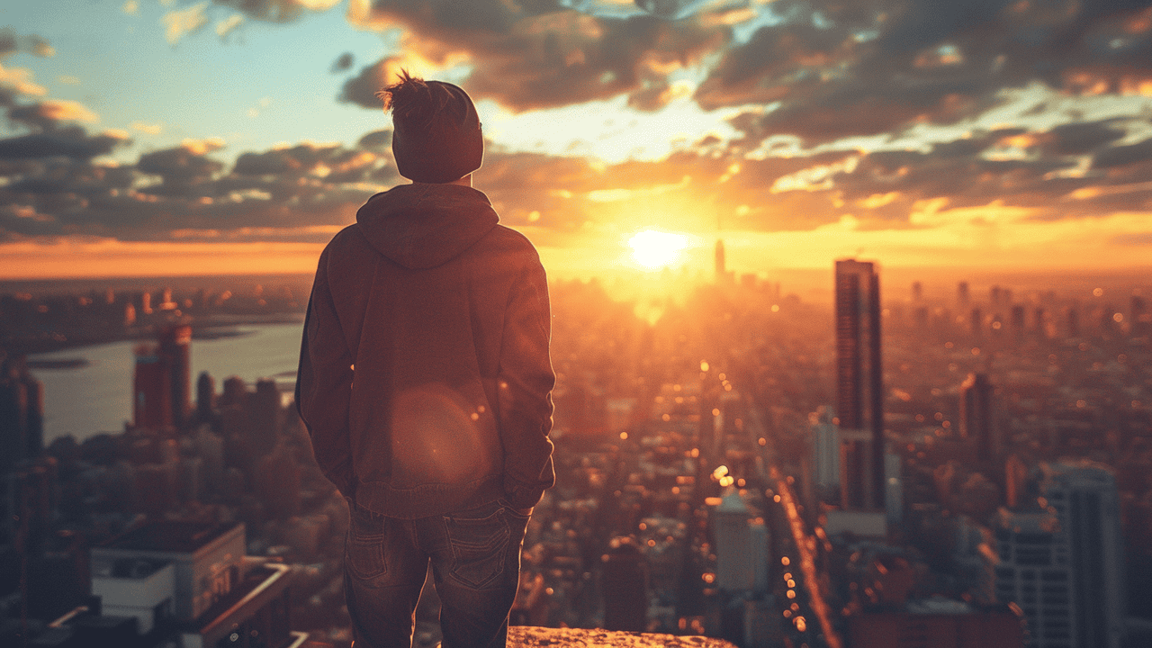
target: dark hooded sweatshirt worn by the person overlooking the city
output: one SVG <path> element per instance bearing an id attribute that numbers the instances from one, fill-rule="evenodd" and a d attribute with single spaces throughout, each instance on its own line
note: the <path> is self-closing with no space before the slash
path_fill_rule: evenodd
<path id="1" fill-rule="evenodd" d="M 420 518 L 552 487 L 544 268 L 460 184 L 372 196 L 320 255 L 296 404 L 358 505 Z"/>

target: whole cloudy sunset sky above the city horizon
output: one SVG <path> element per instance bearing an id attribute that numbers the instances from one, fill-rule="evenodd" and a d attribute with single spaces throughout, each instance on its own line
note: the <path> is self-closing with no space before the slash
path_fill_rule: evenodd
<path id="1" fill-rule="evenodd" d="M 475 186 L 552 276 L 705 272 L 718 238 L 770 277 L 1152 266 L 1149 0 L 53 0 L 0 28 L 0 278 L 312 271 L 406 182 L 374 97 L 402 67 L 477 101 Z"/>

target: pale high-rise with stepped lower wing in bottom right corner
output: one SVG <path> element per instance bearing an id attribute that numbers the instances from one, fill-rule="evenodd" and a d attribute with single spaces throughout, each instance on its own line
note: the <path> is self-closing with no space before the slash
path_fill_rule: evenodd
<path id="1" fill-rule="evenodd" d="M 1115 477 L 1086 461 L 1041 468 L 1048 510 L 1001 512 L 996 597 L 1020 605 L 1037 646 L 1119 648 L 1124 573 Z"/>

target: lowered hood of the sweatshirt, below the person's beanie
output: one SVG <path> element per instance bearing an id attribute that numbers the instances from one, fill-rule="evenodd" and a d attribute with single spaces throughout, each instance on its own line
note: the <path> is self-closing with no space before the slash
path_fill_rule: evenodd
<path id="1" fill-rule="evenodd" d="M 457 257 L 499 221 L 488 197 L 462 184 L 400 184 L 356 212 L 369 243 L 412 270 Z"/>

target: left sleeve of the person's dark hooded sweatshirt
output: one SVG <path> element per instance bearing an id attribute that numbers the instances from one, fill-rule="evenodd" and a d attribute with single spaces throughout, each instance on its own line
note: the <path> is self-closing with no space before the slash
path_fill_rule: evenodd
<path id="1" fill-rule="evenodd" d="M 312 284 L 296 374 L 296 409 L 312 439 L 324 475 L 346 497 L 354 496 L 348 408 L 353 357 L 336 314 L 327 277 L 327 250 Z"/>

